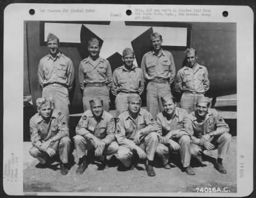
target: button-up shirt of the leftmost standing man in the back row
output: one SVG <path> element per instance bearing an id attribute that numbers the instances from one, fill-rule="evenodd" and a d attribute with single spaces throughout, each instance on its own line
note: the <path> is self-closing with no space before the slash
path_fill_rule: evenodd
<path id="1" fill-rule="evenodd" d="M 42 57 L 38 65 L 38 81 L 41 88 L 53 83 L 58 83 L 68 90 L 72 89 L 74 83 L 74 67 L 72 61 L 58 52 L 56 59 L 50 54 Z"/>

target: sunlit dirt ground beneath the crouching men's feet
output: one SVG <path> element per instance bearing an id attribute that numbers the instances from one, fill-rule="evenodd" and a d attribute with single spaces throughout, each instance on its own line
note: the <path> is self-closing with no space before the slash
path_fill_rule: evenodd
<path id="1" fill-rule="evenodd" d="M 72 153 L 76 156 L 76 151 Z M 111 167 L 103 171 L 97 170 L 97 163 L 89 164 L 84 174 L 77 176 L 77 164 L 72 165 L 67 176 L 60 174 L 60 163 L 54 162 L 50 168 L 36 168 L 38 161 L 24 164 L 24 192 L 130 192 L 130 193 L 161 193 L 161 192 L 196 192 L 196 188 L 220 188 L 228 192 L 236 192 L 236 137 L 232 137 L 230 152 L 223 161 L 227 174 L 214 169 L 212 160 L 215 151 L 205 151 L 204 159 L 207 167 L 194 167 L 195 176 L 188 176 L 179 168 L 179 160 L 174 159 L 178 167 L 163 169 L 159 159 L 155 159 L 155 177 L 147 176 L 143 164 L 132 171 L 118 171 L 115 160 Z M 175 155 L 174 155 L 175 156 Z M 77 162 L 77 159 L 75 158 Z"/>

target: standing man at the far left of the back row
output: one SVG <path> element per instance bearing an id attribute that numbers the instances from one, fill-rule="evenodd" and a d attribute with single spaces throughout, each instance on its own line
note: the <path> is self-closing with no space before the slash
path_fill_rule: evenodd
<path id="1" fill-rule="evenodd" d="M 60 110 L 69 121 L 70 105 L 68 92 L 74 83 L 74 67 L 72 61 L 59 50 L 60 40 L 49 33 L 47 47 L 49 54 L 40 59 L 38 65 L 38 81 L 42 88 L 42 96 L 52 98 L 54 107 Z"/>

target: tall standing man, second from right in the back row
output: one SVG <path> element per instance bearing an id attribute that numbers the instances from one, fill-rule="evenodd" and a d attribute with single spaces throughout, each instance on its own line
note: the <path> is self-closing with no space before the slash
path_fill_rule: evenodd
<path id="1" fill-rule="evenodd" d="M 150 36 L 153 50 L 144 54 L 141 69 L 147 85 L 147 110 L 156 118 L 163 111 L 161 96 L 171 93 L 171 85 L 175 77 L 175 64 L 171 52 L 163 50 L 163 38 L 159 33 Z"/>

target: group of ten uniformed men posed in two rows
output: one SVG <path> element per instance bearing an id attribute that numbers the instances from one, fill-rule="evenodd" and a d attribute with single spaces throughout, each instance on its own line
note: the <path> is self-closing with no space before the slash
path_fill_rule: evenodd
<path id="1" fill-rule="evenodd" d="M 59 42 L 54 34 L 47 36 L 49 54 L 38 65 L 42 98 L 37 98 L 38 112 L 29 123 L 33 144 L 29 153 L 43 167 L 58 154 L 61 174 L 65 175 L 72 150 L 68 93 L 74 84 L 74 67 L 60 52 Z M 150 42 L 152 51 L 143 56 L 141 68 L 133 64 L 132 49 L 125 48 L 124 65 L 112 75 L 108 60 L 99 56 L 99 40 L 89 40 L 90 56 L 79 65 L 84 113 L 73 137 L 78 160 L 76 173 L 83 174 L 88 156 L 93 155 L 100 162 L 99 169 L 104 169 L 115 156 L 118 169 L 134 169 L 140 161 L 145 163 L 148 176 L 155 176 L 155 155 L 161 158 L 164 169 L 171 169 L 170 156 L 174 152 L 179 153 L 184 172 L 194 175 L 191 157 L 204 166 L 204 150 L 212 149 L 218 149 L 214 167 L 227 173 L 222 161 L 231 135 L 227 123 L 209 108 L 210 100 L 204 96 L 209 89 L 207 68 L 196 63 L 195 49 L 186 49 L 184 66 L 175 77 L 173 56 L 163 50 L 161 34 L 152 33 Z M 172 95 L 173 83 L 175 91 L 182 94 L 179 107 Z M 147 110 L 141 108 L 145 84 Z M 109 114 L 109 91 L 116 96 L 116 119 Z"/>

